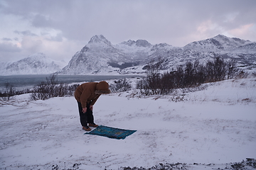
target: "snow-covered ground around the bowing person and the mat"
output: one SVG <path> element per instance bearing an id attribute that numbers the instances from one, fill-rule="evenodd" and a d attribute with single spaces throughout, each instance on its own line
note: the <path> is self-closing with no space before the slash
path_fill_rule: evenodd
<path id="1" fill-rule="evenodd" d="M 225 169 L 256 158 L 255 78 L 169 96 L 145 98 L 134 89 L 100 96 L 95 123 L 137 130 L 124 140 L 84 135 L 73 97 L 28 98 L 1 103 L 0 169 L 149 169 L 177 162 L 184 169 Z"/>

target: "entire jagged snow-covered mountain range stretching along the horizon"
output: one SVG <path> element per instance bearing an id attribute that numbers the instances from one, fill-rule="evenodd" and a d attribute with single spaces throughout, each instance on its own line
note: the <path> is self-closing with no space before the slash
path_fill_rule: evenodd
<path id="1" fill-rule="evenodd" d="M 174 47 L 166 43 L 151 45 L 146 40 L 128 40 L 113 45 L 103 35 L 95 35 L 82 50 L 75 53 L 63 69 L 57 62 L 48 62 L 49 59 L 41 62 L 38 69 L 35 62 L 28 62 L 28 57 L 22 60 L 23 64 L 18 64 L 21 60 L 16 64 L 6 64 L 8 67 L 4 66 L 6 69 L 3 73 L 23 70 L 23 74 L 142 74 L 146 64 L 151 60 L 158 60 L 159 57 L 164 59 L 163 69 L 166 70 L 188 61 L 206 62 L 213 57 L 234 59 L 240 67 L 252 69 L 256 66 L 256 42 L 217 35 L 191 42 L 184 47 Z"/>

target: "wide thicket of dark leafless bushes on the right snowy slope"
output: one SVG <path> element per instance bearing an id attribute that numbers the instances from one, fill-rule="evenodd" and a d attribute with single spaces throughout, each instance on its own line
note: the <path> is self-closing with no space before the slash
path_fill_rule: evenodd
<path id="1" fill-rule="evenodd" d="M 142 94 L 169 94 L 174 89 L 194 88 L 203 83 L 233 79 L 237 76 L 246 77 L 244 72 L 238 74 L 233 60 L 225 62 L 220 57 L 215 57 L 205 65 L 197 60 L 194 63 L 187 62 L 185 66 L 177 66 L 176 71 L 160 74 L 161 64 L 164 62 L 161 58 L 149 62 L 146 77 L 137 82 L 137 89 Z"/>

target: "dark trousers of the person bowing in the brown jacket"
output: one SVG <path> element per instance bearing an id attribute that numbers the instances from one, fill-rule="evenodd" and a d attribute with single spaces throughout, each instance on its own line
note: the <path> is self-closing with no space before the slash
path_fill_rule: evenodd
<path id="1" fill-rule="evenodd" d="M 82 104 L 78 102 L 78 111 L 80 115 L 80 123 L 82 126 L 87 126 L 87 123 L 94 123 L 94 118 L 92 115 L 92 111 L 90 110 L 90 104 L 86 105 L 86 112 L 82 113 Z"/>

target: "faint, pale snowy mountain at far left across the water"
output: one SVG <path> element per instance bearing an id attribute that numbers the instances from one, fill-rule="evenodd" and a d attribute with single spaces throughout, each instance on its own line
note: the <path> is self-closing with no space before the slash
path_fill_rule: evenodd
<path id="1" fill-rule="evenodd" d="M 1 63 L 1 75 L 13 74 L 51 74 L 58 72 L 65 65 L 46 57 L 45 54 L 38 52 L 17 62 Z"/>

